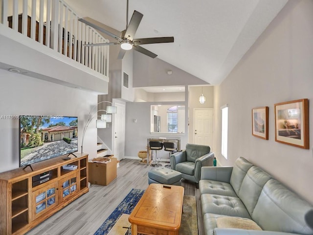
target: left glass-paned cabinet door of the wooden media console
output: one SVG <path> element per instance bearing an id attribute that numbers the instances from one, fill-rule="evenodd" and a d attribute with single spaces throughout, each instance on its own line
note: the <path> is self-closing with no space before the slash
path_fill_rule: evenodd
<path id="1" fill-rule="evenodd" d="M 33 219 L 58 205 L 58 182 L 33 192 Z"/>

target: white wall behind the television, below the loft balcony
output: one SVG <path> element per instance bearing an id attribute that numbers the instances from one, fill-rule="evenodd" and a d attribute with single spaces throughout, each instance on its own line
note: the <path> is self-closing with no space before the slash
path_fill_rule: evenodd
<path id="1" fill-rule="evenodd" d="M 0 116 L 63 115 L 78 117 L 78 149 L 85 120 L 97 94 L 18 73 L 0 70 Z M 19 167 L 19 120 L 0 119 L 0 172 Z M 89 159 L 96 156 L 97 131 L 91 122 L 84 140 Z"/>

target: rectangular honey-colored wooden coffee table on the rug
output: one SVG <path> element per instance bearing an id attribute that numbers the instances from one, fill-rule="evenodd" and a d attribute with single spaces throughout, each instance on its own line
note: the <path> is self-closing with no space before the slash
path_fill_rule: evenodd
<path id="1" fill-rule="evenodd" d="M 178 235 L 183 196 L 181 186 L 149 185 L 128 218 L 132 235 Z"/>

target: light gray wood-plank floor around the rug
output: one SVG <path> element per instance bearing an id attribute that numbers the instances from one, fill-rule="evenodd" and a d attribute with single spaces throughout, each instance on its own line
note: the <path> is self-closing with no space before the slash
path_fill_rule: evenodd
<path id="1" fill-rule="evenodd" d="M 163 165 L 165 165 L 163 163 Z M 93 235 L 132 188 L 148 187 L 151 166 L 139 160 L 124 159 L 117 168 L 117 178 L 108 186 L 91 185 L 89 192 L 33 228 L 26 235 Z M 203 233 L 200 190 L 182 180 L 185 195 L 197 197 L 199 235 Z"/>

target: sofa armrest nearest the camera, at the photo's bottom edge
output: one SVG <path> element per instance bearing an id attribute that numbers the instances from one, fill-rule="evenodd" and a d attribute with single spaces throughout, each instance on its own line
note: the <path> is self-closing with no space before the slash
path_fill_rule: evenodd
<path id="1" fill-rule="evenodd" d="M 298 235 L 284 232 L 274 231 L 259 231 L 259 230 L 246 230 L 246 229 L 214 229 L 214 235 Z"/>

